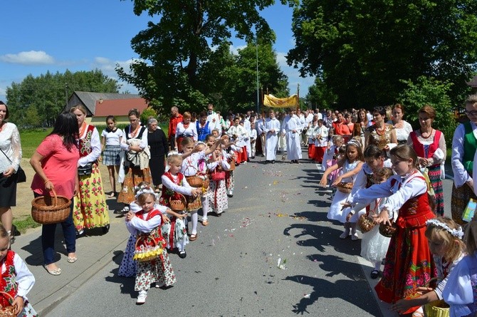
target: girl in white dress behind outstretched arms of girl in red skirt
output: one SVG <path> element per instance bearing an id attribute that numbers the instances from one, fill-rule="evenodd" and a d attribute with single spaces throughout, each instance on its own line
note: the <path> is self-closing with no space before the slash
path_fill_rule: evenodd
<path id="1" fill-rule="evenodd" d="M 364 166 L 364 165 L 363 165 Z M 386 182 L 389 177 L 392 177 L 393 172 L 389 167 L 382 167 L 373 174 L 374 183 L 381 184 Z M 387 202 L 387 197 L 376 199 L 374 202 L 368 205 L 369 210 L 366 212 L 366 217 L 372 217 L 374 214 L 379 214 L 384 204 Z M 353 209 L 362 209 L 365 206 L 355 207 Z M 389 215 L 394 219 L 394 213 Z M 386 256 L 387 249 L 389 247 L 389 237 L 384 237 L 379 233 L 379 226 L 374 226 L 369 232 L 363 232 L 361 239 L 361 256 L 372 264 L 374 269 L 371 271 L 371 279 L 377 279 L 379 271 L 381 269 L 382 259 Z"/>

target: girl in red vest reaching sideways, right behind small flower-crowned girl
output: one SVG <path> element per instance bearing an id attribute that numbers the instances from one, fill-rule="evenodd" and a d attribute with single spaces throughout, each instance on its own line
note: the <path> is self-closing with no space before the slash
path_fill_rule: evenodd
<path id="1" fill-rule="evenodd" d="M 167 165 L 169 165 L 169 170 L 162 175 L 162 195 L 159 199 L 159 204 L 170 208 L 170 201 L 172 199 L 181 199 L 181 195 L 199 197 L 202 193 L 202 189 L 192 188 L 184 175 L 180 172 L 182 168 L 182 156 L 176 153 L 172 153 L 172 155 L 169 153 Z M 189 201 L 190 200 L 191 198 L 189 198 Z M 179 211 L 177 214 L 180 214 L 181 217 L 172 216 L 169 241 L 167 241 L 167 244 L 170 249 L 177 247 L 177 249 L 179 249 L 179 257 L 184 259 L 187 256 L 185 247 L 186 244 L 189 243 L 186 229 L 187 212 Z"/>

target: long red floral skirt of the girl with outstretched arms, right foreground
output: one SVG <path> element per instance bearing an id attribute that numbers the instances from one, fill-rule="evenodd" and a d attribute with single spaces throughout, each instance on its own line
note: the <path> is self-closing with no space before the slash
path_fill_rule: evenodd
<path id="1" fill-rule="evenodd" d="M 374 287 L 377 296 L 386 303 L 402 298 L 419 297 L 418 287 L 437 275 L 434 259 L 427 243 L 426 226 L 398 228 L 389 242 L 382 279 Z M 412 313 L 419 307 L 409 308 Z"/>

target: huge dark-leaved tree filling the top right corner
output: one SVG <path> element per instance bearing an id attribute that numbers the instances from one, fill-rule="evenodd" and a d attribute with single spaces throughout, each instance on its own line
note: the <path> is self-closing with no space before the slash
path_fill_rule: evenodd
<path id="1" fill-rule="evenodd" d="M 475 0 L 304 0 L 288 63 L 347 107 L 392 103 L 401 80 L 419 76 L 454 83 L 456 98 L 477 61 L 476 10 Z"/>

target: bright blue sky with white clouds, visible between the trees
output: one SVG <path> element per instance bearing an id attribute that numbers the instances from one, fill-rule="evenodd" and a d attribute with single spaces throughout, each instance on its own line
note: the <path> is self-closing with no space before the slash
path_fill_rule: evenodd
<path id="1" fill-rule="evenodd" d="M 135 16 L 129 0 L 0 1 L 0 12 L 0 100 L 4 101 L 6 88 L 12 82 L 21 83 L 28 74 L 98 68 L 118 79 L 116 63 L 127 66 L 137 58 L 130 40 L 151 19 L 145 14 Z M 277 34 L 274 48 L 281 70 L 288 76 L 290 92 L 296 93 L 300 83 L 300 96 L 305 96 L 313 78 L 300 78 L 298 70 L 288 67 L 285 61 L 294 45 L 292 9 L 276 4 L 264 10 L 262 16 Z M 234 49 L 244 45 L 236 38 L 231 41 Z M 124 84 L 122 90 L 137 93 L 132 85 Z"/>

